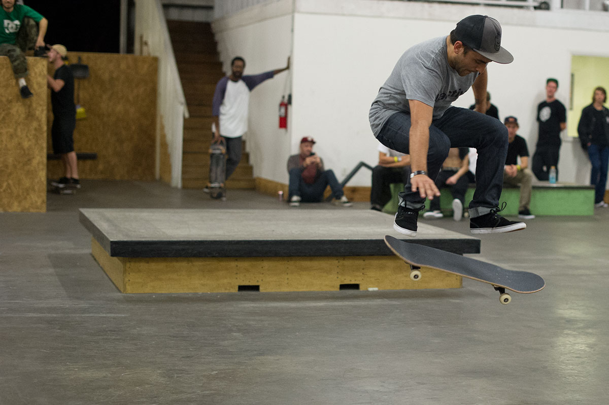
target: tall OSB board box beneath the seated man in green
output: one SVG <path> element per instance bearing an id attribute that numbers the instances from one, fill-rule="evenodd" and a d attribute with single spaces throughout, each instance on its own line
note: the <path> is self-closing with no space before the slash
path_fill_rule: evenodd
<path id="1" fill-rule="evenodd" d="M 46 211 L 46 69 L 44 58 L 27 58 L 21 99 L 9 58 L 0 57 L 0 211 Z"/>

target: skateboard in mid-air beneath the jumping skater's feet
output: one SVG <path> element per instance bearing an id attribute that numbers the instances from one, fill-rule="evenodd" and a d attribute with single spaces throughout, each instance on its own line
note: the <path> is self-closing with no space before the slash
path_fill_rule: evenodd
<path id="1" fill-rule="evenodd" d="M 505 292 L 506 289 L 530 294 L 546 286 L 546 282 L 535 273 L 504 269 L 485 261 L 441 251 L 434 247 L 404 242 L 389 235 L 385 236 L 385 243 L 393 253 L 410 266 L 410 279 L 414 281 L 423 277 L 421 267 L 457 274 L 492 285 L 496 291 L 499 291 L 499 300 L 502 304 L 512 301 L 510 294 Z"/>

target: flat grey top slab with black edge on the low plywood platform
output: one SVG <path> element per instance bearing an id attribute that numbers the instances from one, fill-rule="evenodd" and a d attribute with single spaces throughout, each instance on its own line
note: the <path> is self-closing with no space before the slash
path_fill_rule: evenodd
<path id="1" fill-rule="evenodd" d="M 384 235 L 395 234 L 392 216 L 349 209 L 81 209 L 80 223 L 113 257 L 383 256 Z M 426 224 L 404 240 L 480 252 L 479 239 Z"/>

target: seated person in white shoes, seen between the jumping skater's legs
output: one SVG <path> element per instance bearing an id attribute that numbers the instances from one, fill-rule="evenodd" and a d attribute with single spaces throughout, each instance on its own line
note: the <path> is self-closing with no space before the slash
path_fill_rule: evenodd
<path id="1" fill-rule="evenodd" d="M 448 157 L 442 164 L 442 170 L 435 179 L 435 187 L 438 190 L 445 185 L 450 186 L 452 194 L 452 219 L 460 221 L 463 218 L 463 206 L 465 205 L 465 193 L 470 181 L 466 176 L 470 170 L 469 148 L 450 148 Z M 442 218 L 440 210 L 440 197 L 429 201 L 429 211 L 423 214 L 423 218 Z"/>

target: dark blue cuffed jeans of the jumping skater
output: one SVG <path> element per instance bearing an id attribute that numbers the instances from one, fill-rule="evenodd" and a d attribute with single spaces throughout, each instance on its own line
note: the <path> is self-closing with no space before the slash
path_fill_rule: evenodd
<path id="1" fill-rule="evenodd" d="M 376 139 L 388 148 L 409 152 L 410 114 L 396 112 L 382 127 Z M 470 202 L 470 217 L 484 215 L 499 206 L 503 185 L 503 169 L 507 156 L 507 128 L 496 118 L 471 109 L 450 107 L 429 127 L 427 171 L 429 178 L 437 178 L 450 148 L 476 148 L 476 191 Z M 425 199 L 418 190 L 406 184 L 400 193 L 400 204 L 422 209 Z"/>

